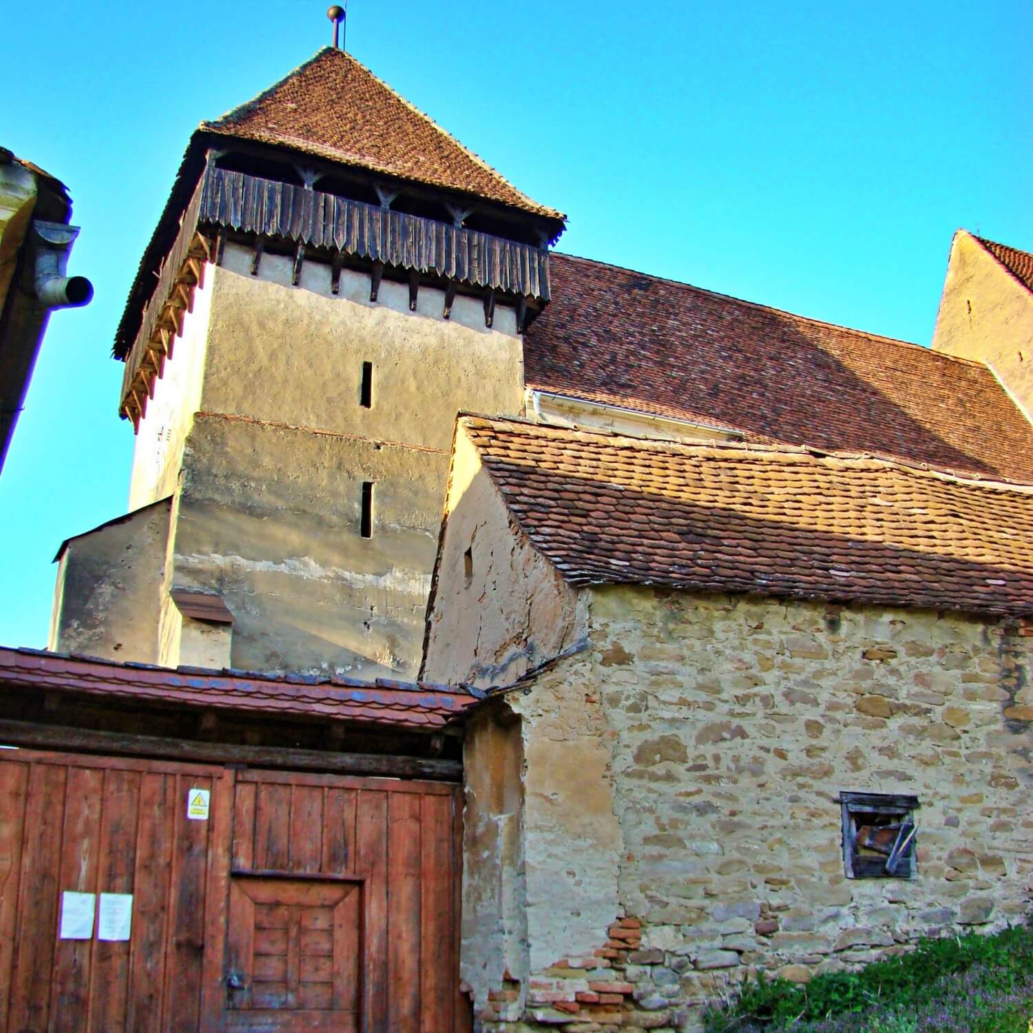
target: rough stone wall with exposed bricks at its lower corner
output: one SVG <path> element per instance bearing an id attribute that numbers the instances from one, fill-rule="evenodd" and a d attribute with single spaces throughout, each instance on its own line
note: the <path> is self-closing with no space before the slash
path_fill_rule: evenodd
<path id="1" fill-rule="evenodd" d="M 524 1025 L 489 1004 L 486 1030 L 691 1030 L 703 1001 L 758 967 L 806 981 L 921 935 L 1027 914 L 1029 629 L 588 591 L 591 653 L 512 702 L 527 763 L 528 908 L 550 919 L 529 921 L 527 984 L 493 988 L 524 995 Z M 593 748 L 604 759 L 584 762 L 578 751 Z M 845 877 L 842 790 L 919 799 L 914 880 Z M 617 885 L 616 899 L 595 888 L 588 911 L 575 896 L 581 826 L 545 816 L 592 795 L 615 828 L 600 856 Z M 563 821 L 577 834 L 564 838 Z"/>

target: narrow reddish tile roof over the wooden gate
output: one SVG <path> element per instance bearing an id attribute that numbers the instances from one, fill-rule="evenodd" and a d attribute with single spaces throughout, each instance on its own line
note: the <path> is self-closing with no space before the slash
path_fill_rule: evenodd
<path id="1" fill-rule="evenodd" d="M 477 701 L 466 689 L 430 683 L 282 678 L 115 663 L 0 647 L 0 683 L 106 699 L 165 702 L 267 715 L 321 717 L 404 728 L 440 728 Z"/>

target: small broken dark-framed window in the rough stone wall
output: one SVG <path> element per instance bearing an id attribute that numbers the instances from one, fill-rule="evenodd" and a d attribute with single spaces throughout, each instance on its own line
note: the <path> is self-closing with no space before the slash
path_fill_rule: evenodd
<path id="1" fill-rule="evenodd" d="M 917 796 L 841 792 L 840 807 L 847 878 L 914 878 Z"/>

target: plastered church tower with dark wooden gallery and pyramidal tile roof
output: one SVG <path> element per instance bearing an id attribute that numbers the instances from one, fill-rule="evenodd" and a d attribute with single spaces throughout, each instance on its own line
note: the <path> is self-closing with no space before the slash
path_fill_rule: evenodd
<path id="1" fill-rule="evenodd" d="M 523 411 L 563 225 L 341 50 L 202 123 L 116 337 L 130 513 L 62 546 L 51 647 L 414 677 L 456 414 Z"/>

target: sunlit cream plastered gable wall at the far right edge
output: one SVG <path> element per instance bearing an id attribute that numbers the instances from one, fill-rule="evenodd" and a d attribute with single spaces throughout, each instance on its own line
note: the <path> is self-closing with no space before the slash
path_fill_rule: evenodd
<path id="1" fill-rule="evenodd" d="M 1033 419 L 1033 295 L 965 230 L 950 248 L 933 347 L 985 363 Z"/>

